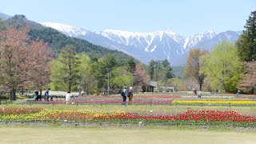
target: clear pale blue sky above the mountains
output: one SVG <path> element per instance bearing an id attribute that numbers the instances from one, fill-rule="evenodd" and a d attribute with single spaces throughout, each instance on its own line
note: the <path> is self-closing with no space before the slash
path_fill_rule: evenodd
<path id="1" fill-rule="evenodd" d="M 86 30 L 152 32 L 188 36 L 206 30 L 244 30 L 256 0 L 1 0 L 0 13 L 35 22 L 59 22 Z"/>

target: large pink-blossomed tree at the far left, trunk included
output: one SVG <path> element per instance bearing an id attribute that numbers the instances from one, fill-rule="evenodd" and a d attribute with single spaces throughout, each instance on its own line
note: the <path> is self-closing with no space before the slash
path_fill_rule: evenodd
<path id="1" fill-rule="evenodd" d="M 10 89 L 10 99 L 16 99 L 18 86 L 37 82 L 38 76 L 49 77 L 50 50 L 42 40 L 30 40 L 29 27 L 17 29 L 4 26 L 0 31 L 0 77 L 2 84 Z"/>

